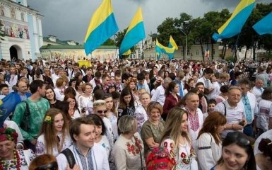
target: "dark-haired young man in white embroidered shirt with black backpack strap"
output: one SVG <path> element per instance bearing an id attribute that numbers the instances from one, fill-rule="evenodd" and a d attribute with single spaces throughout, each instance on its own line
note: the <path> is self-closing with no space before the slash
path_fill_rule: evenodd
<path id="1" fill-rule="evenodd" d="M 61 152 L 57 156 L 57 163 L 60 170 L 84 169 L 100 170 L 110 169 L 106 150 L 95 144 L 95 123 L 90 118 L 76 118 L 71 122 L 70 135 L 73 145 L 67 149 L 71 152 L 76 164 L 69 167 L 69 160 Z"/>

